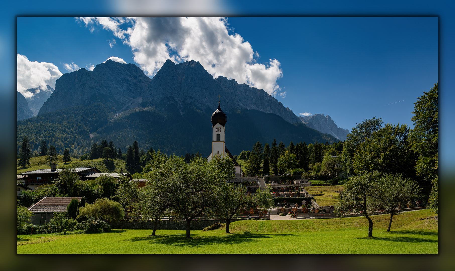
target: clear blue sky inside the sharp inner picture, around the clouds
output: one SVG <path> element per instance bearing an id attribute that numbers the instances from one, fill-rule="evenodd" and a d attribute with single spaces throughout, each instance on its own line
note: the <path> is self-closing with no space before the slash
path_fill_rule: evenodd
<path id="1" fill-rule="evenodd" d="M 233 17 L 227 23 L 229 34 L 241 35 L 259 54 L 258 63 L 280 62 L 275 97 L 284 106 L 297 115 L 330 115 L 344 129 L 374 116 L 412 126 L 416 97 L 438 80 L 437 17 Z M 62 73 L 69 71 L 65 63 L 89 69 L 111 56 L 140 65 L 112 31 L 74 17 L 18 17 L 17 52 Z"/>

